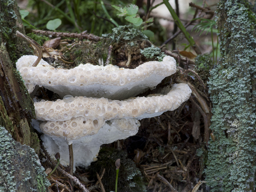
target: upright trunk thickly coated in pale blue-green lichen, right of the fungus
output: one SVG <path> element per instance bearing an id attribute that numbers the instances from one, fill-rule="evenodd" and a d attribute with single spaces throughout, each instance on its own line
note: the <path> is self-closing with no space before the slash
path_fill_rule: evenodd
<path id="1" fill-rule="evenodd" d="M 255 9 L 254 9 L 255 10 Z M 220 0 L 221 59 L 211 71 L 213 103 L 207 184 L 211 191 L 255 191 L 256 17 L 247 0 Z"/>

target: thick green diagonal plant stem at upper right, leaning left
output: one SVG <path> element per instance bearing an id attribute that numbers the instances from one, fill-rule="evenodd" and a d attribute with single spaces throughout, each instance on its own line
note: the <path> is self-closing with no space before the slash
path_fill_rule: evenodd
<path id="1" fill-rule="evenodd" d="M 177 24 L 178 28 L 180 28 L 180 30 L 182 31 L 182 33 L 184 34 L 184 36 L 186 37 L 186 39 L 188 40 L 189 44 L 193 47 L 193 49 L 195 50 L 196 54 L 202 54 L 200 49 L 197 47 L 194 39 L 192 36 L 190 36 L 190 34 L 188 33 L 187 29 L 183 26 L 183 24 L 181 23 L 179 17 L 177 16 L 177 14 L 175 13 L 174 9 L 172 8 L 171 4 L 168 2 L 168 0 L 163 0 L 165 6 L 167 7 L 167 9 L 169 10 L 169 12 L 172 15 L 172 18 L 174 20 L 174 22 Z"/>

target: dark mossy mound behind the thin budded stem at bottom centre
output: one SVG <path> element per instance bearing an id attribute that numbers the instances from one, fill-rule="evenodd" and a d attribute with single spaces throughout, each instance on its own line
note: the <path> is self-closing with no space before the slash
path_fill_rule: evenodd
<path id="1" fill-rule="evenodd" d="M 116 159 L 121 160 L 121 166 L 118 174 L 117 191 L 126 192 L 143 192 L 146 190 L 146 184 L 141 176 L 140 170 L 136 168 L 134 162 L 127 158 L 124 151 L 113 148 L 102 148 L 100 150 L 98 160 L 90 166 L 92 174 L 100 172 L 101 168 L 105 168 L 105 174 L 102 179 L 106 191 L 113 191 L 116 182 Z"/>

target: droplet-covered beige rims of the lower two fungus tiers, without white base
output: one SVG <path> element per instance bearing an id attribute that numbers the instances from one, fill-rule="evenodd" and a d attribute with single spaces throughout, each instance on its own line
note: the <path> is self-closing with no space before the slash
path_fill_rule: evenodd
<path id="1" fill-rule="evenodd" d="M 178 108 L 188 100 L 191 89 L 187 84 L 174 84 L 166 95 L 137 97 L 128 100 L 108 100 L 68 96 L 68 100 L 40 101 L 34 104 L 42 132 L 67 140 L 98 133 L 111 119 L 150 118 Z M 71 99 L 70 99 L 71 98 Z"/>

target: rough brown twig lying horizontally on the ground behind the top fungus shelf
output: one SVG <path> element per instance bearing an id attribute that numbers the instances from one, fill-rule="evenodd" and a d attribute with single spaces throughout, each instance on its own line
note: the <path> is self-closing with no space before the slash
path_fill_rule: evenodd
<path id="1" fill-rule="evenodd" d="M 39 33 L 45 36 L 52 35 L 54 37 L 71 37 L 78 39 L 88 39 L 90 41 L 100 41 L 100 37 L 87 33 L 87 31 L 83 31 L 82 33 L 70 33 L 70 32 L 55 32 L 55 31 L 45 31 L 45 30 L 32 30 L 33 33 Z"/>

